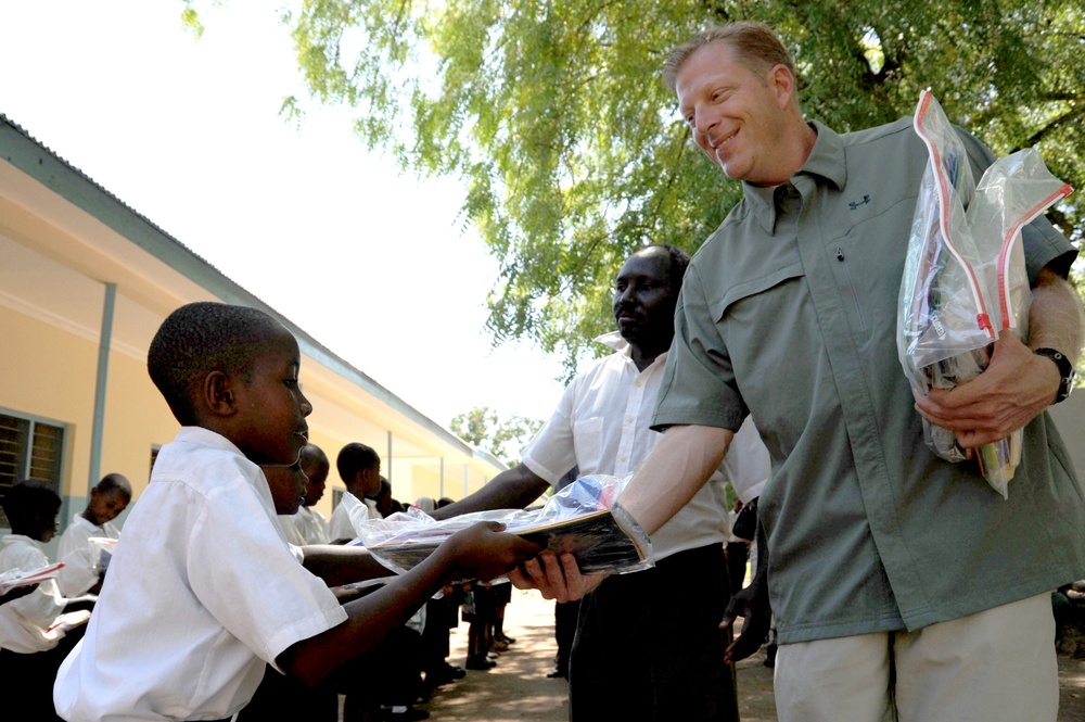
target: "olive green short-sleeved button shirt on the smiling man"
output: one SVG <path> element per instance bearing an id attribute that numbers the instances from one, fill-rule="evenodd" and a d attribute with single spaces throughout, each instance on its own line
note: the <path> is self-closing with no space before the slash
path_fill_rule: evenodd
<path id="1" fill-rule="evenodd" d="M 923 441 L 896 303 L 927 150 L 910 121 L 817 142 L 790 182 L 744 185 L 694 256 L 654 423 L 736 430 L 773 458 L 758 503 L 781 643 L 928 624 L 1085 577 L 1085 501 L 1042 414 L 1009 501 Z M 975 177 L 993 161 L 961 134 Z M 1076 255 L 1045 220 L 1030 278 Z"/>

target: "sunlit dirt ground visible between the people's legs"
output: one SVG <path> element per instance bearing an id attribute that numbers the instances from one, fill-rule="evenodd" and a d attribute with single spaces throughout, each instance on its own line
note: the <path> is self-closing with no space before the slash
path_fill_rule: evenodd
<path id="1" fill-rule="evenodd" d="M 463 722 L 566 722 L 567 689 L 564 680 L 549 680 L 557 645 L 553 641 L 553 603 L 537 594 L 513 590 L 507 608 L 506 633 L 516 639 L 488 672 L 439 687 L 430 701 L 419 705 L 432 720 Z M 462 666 L 467 624 L 451 636 L 449 661 Z M 773 670 L 764 655 L 754 655 L 737 668 L 739 713 L 742 722 L 776 722 Z M 1085 659 L 1059 656 L 1061 706 L 1059 722 L 1085 720 Z"/>

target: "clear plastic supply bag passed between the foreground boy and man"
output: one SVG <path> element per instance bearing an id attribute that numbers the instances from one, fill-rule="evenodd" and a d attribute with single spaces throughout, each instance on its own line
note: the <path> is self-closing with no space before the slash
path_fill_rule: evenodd
<path id="1" fill-rule="evenodd" d="M 352 514 L 359 541 L 397 573 L 425 559 L 446 539 L 478 521 L 499 521 L 560 554 L 572 553 L 582 572 L 625 573 L 653 566 L 648 535 L 628 515 L 612 509 L 628 478 L 582 477 L 551 496 L 541 509 L 497 509 L 437 521 L 418 507 L 386 519 Z M 465 581 L 465 580 L 461 580 Z"/>

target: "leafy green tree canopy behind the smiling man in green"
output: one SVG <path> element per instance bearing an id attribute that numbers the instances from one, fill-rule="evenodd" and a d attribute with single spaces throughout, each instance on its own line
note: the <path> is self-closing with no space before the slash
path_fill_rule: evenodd
<path id="1" fill-rule="evenodd" d="M 304 0 L 283 15 L 314 98 L 356 109 L 404 168 L 464 180 L 500 262 L 495 342 L 531 338 L 570 368 L 613 326 L 622 259 L 695 250 L 741 194 L 660 80 L 675 45 L 735 20 L 780 34 L 807 117 L 856 130 L 910 115 L 930 87 L 996 154 L 1036 145 L 1085 186 L 1080 0 Z M 1052 214 L 1075 241 L 1083 207 L 1076 194 Z"/>

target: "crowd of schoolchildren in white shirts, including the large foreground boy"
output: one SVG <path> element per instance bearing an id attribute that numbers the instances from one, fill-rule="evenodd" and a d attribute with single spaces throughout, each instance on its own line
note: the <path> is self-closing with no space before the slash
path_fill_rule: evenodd
<path id="1" fill-rule="evenodd" d="M 308 443 L 299 364 L 291 333 L 256 309 L 194 303 L 163 322 L 148 369 L 182 428 L 124 542 L 111 522 L 132 491 L 108 474 L 65 530 L 56 578 L 0 599 L 0 679 L 24 719 L 336 720 L 341 695 L 346 720 L 424 719 L 420 696 L 465 674 L 447 660 L 461 607 L 468 669 L 514 642 L 509 584 L 486 580 L 537 545 L 481 522 L 392 575 L 348 543 L 352 509 L 404 508 L 363 444 L 337 456 L 347 492 L 331 522 L 314 508 L 330 463 Z M 3 510 L 0 572 L 44 567 L 60 496 L 22 481 Z M 482 581 L 450 586 L 461 579 Z"/>

